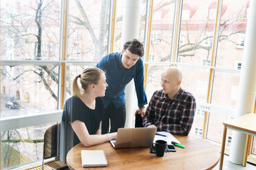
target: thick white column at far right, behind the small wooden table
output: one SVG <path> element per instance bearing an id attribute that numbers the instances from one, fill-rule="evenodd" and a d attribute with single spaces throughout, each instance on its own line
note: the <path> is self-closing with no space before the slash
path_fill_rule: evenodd
<path id="1" fill-rule="evenodd" d="M 239 94 L 237 100 L 237 112 L 235 117 L 240 117 L 253 112 L 256 93 L 256 1 L 250 1 L 247 15 L 246 37 L 244 42 L 244 54 L 242 70 L 239 82 Z M 256 122 L 255 122 L 256 123 Z M 241 132 L 232 132 L 231 154 L 229 160 L 242 165 L 246 135 Z"/>

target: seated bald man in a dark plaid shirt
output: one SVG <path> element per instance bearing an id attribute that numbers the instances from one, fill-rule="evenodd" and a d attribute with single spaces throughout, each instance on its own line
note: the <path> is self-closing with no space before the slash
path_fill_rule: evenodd
<path id="1" fill-rule="evenodd" d="M 182 73 L 169 67 L 162 73 L 162 90 L 153 93 L 143 117 L 144 127 L 158 127 L 158 131 L 188 135 L 195 114 L 195 97 L 180 85 Z"/>

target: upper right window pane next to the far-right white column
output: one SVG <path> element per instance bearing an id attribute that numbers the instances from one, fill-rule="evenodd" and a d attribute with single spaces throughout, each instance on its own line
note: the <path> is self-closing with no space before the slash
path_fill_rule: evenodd
<path id="1" fill-rule="evenodd" d="M 217 48 L 216 66 L 239 69 L 244 52 L 244 36 L 246 32 L 246 12 L 248 1 L 224 0 L 220 21 L 219 44 Z M 241 69 L 241 65 L 240 65 Z"/>

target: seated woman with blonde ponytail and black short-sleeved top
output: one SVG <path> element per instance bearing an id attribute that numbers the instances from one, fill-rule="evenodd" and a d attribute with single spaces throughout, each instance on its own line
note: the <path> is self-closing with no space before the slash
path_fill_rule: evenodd
<path id="1" fill-rule="evenodd" d="M 84 69 L 74 78 L 72 97 L 65 102 L 62 117 L 63 125 L 66 122 L 67 126 L 66 151 L 80 142 L 89 147 L 116 139 L 116 133 L 101 134 L 104 108 L 100 97 L 105 96 L 107 86 L 105 73 L 98 68 Z"/>

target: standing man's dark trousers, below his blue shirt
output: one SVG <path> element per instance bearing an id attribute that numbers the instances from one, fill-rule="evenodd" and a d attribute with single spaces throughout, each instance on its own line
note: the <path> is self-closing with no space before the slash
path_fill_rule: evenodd
<path id="1" fill-rule="evenodd" d="M 112 102 L 105 108 L 105 116 L 101 123 L 101 134 L 109 133 L 109 119 L 110 119 L 110 133 L 117 132 L 118 128 L 125 127 L 126 107 L 125 104 L 116 108 Z"/>

